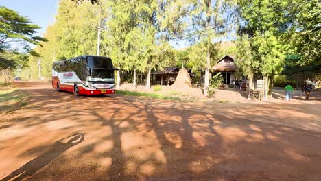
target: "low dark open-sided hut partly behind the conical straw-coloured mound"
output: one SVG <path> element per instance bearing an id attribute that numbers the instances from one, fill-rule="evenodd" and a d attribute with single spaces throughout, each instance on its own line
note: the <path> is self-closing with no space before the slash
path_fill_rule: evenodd
<path id="1" fill-rule="evenodd" d="M 156 85 L 167 85 L 170 86 L 174 84 L 176 77 L 180 69 L 178 67 L 165 67 L 163 71 L 154 71 L 152 72 L 152 84 Z M 195 76 L 194 73 L 191 73 L 191 69 L 187 69 L 189 75 L 192 77 Z"/>

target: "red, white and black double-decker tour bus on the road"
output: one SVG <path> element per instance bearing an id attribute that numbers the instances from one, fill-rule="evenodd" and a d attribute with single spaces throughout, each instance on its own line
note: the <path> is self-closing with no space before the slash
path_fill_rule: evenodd
<path id="1" fill-rule="evenodd" d="M 102 56 L 78 56 L 53 62 L 52 86 L 75 95 L 115 93 L 115 68 L 112 60 Z"/>

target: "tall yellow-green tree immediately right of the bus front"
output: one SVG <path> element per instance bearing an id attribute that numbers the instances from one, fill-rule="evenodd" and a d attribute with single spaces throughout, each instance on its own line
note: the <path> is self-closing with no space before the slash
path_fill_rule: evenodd
<path id="1" fill-rule="evenodd" d="M 136 69 L 136 65 L 132 60 L 141 56 L 137 51 L 141 47 L 141 43 L 134 44 L 132 40 L 134 36 L 141 40 L 141 29 L 136 28 L 136 8 L 139 8 L 139 1 L 110 1 L 110 16 L 106 21 L 106 32 L 104 36 L 108 39 L 103 40 L 104 45 L 109 47 L 105 51 L 110 52 L 111 58 L 114 60 L 116 67 L 124 71 Z M 137 43 L 137 42 L 136 42 Z M 134 52 L 136 51 L 136 52 Z M 117 71 L 117 87 L 121 82 L 121 71 Z M 136 74 L 136 71 L 134 71 Z M 136 77 L 136 76 L 135 76 Z"/>

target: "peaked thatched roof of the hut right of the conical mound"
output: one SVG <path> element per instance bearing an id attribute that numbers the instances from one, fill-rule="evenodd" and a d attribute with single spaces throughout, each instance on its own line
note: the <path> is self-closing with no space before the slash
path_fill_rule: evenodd
<path id="1" fill-rule="evenodd" d="M 213 66 L 211 69 L 213 71 L 236 71 L 237 66 L 234 62 L 233 56 L 224 56 L 223 58 L 219 59 L 215 66 Z"/>

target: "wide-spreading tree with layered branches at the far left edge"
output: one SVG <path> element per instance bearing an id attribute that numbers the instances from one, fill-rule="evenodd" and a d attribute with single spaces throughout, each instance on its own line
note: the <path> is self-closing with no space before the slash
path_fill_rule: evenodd
<path id="1" fill-rule="evenodd" d="M 0 71 L 6 81 L 9 81 L 8 77 L 16 67 L 25 67 L 27 53 L 36 56 L 29 45 L 40 45 L 41 41 L 46 41 L 45 38 L 34 36 L 39 28 L 18 12 L 0 6 Z M 14 48 L 17 45 L 21 48 Z"/>

